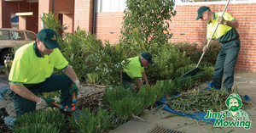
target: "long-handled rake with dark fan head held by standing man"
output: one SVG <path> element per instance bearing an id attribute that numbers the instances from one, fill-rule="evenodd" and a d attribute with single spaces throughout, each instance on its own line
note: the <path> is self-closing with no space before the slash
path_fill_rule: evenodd
<path id="1" fill-rule="evenodd" d="M 221 17 L 224 15 L 224 12 L 225 12 L 226 8 L 228 7 L 229 3 L 230 3 L 230 0 L 228 0 L 228 2 L 226 3 L 226 6 L 225 6 L 225 8 L 224 8 L 223 13 L 221 14 Z M 210 39 L 209 42 L 207 43 L 207 47 L 208 47 L 209 44 L 211 43 L 212 37 L 214 36 L 214 34 L 215 34 L 215 32 L 216 32 L 216 30 L 217 30 L 217 28 L 218 28 L 218 25 L 219 25 L 219 23 L 216 25 L 215 30 L 214 30 L 213 33 L 212 33 L 211 39 Z M 205 53 L 206 53 L 206 51 L 201 54 L 201 58 L 199 59 L 199 62 L 198 62 L 198 64 L 196 65 L 195 69 L 191 69 L 189 72 L 187 72 L 187 73 L 185 73 L 185 74 L 183 74 L 183 75 L 181 76 L 181 78 L 180 78 L 181 81 L 183 81 L 183 80 L 189 80 L 189 79 L 193 80 L 193 79 L 201 78 L 201 77 L 204 75 L 205 70 L 198 68 L 198 66 L 199 66 L 199 64 L 201 63 L 201 59 L 203 58 L 203 56 L 205 55 Z"/>

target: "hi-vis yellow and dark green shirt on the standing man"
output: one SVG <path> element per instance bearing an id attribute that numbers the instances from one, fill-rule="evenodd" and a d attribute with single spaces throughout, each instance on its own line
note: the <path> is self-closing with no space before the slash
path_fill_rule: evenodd
<path id="1" fill-rule="evenodd" d="M 209 21 L 207 24 L 207 39 L 210 39 L 212 37 L 212 39 L 217 39 L 218 42 L 229 42 L 230 40 L 233 40 L 239 36 L 238 32 L 236 31 L 236 28 L 232 28 L 228 25 L 218 25 L 217 19 L 218 16 L 221 16 L 222 13 L 223 12 L 219 12 L 217 14 L 213 13 L 213 20 Z M 223 18 L 228 21 L 236 20 L 227 12 L 224 13 Z M 218 28 L 214 36 L 212 36 L 212 33 L 215 30 L 216 25 L 218 25 Z"/>

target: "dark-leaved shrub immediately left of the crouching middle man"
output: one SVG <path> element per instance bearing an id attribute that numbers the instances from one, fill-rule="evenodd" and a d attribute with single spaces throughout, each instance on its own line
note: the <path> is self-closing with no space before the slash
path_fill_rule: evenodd
<path id="1" fill-rule="evenodd" d="M 96 55 L 93 57 L 97 63 L 96 72 L 101 75 L 102 83 L 105 85 L 120 85 L 119 70 L 120 63 L 127 58 L 125 52 L 126 45 L 119 44 L 112 46 L 109 42 L 105 42 L 105 46 L 98 46 L 92 50 Z"/>

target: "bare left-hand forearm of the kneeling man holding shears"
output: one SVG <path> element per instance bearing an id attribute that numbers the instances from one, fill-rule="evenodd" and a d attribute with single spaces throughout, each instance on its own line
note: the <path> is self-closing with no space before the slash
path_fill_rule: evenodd
<path id="1" fill-rule="evenodd" d="M 32 91 L 29 91 L 25 86 L 10 84 L 10 89 L 15 91 L 21 97 L 24 97 L 32 102 L 39 103 L 40 98 L 37 97 Z"/>

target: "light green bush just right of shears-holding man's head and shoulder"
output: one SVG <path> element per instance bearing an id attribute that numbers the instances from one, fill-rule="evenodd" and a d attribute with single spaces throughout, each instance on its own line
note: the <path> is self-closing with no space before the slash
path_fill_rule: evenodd
<path id="1" fill-rule="evenodd" d="M 95 57 L 92 49 L 102 45 L 95 35 L 78 30 L 74 34 L 67 34 L 61 45 L 61 53 L 73 66 L 79 79 L 85 79 L 86 74 L 95 70 L 97 63 L 91 59 Z"/>

